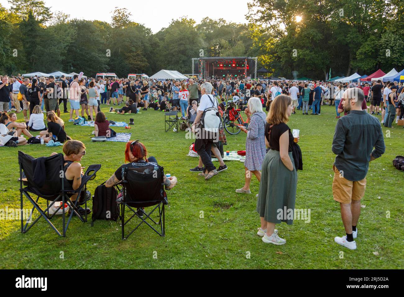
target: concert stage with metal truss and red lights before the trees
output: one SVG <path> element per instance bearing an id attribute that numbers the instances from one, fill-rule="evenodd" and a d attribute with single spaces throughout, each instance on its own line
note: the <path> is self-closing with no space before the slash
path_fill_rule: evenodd
<path id="1" fill-rule="evenodd" d="M 253 79 L 257 78 L 257 57 L 192 58 L 192 73 L 199 79 Z"/>

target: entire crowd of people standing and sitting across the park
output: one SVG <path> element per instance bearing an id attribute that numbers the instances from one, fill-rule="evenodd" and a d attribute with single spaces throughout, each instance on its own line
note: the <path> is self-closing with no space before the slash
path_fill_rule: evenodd
<path id="1" fill-rule="evenodd" d="M 383 84 L 380 80 L 371 85 L 356 85 L 320 81 L 198 81 L 194 78 L 165 82 L 116 78 L 87 80 L 77 75 L 70 80 L 61 77 L 55 81 L 53 76 L 32 79 L 3 76 L 0 84 L 0 141 L 2 145 L 24 145 L 27 140 L 21 135 L 31 138 L 30 131 L 40 131 L 39 136 L 44 142 L 65 142 L 63 152 L 67 168 L 72 169 L 66 175 L 70 182 L 79 171 L 79 166 L 72 167 L 72 164 L 80 161 L 85 147 L 80 141 L 69 140 L 65 123 L 60 118 L 59 107 L 62 103 L 63 112 L 70 113 L 69 121 L 73 121 L 74 113 L 79 116 L 81 105 L 82 116 L 85 112 L 88 120 L 95 124 L 96 136 L 111 137 L 112 130 L 100 110 L 101 104 L 112 105 L 110 111 L 114 110 L 113 105 L 124 104 L 122 108 L 115 109 L 118 114 L 136 114 L 138 106 L 145 111 L 152 108 L 181 112 L 182 118 L 189 120 L 191 131 L 197 135 L 197 129 L 206 128 L 206 120 L 202 123 L 206 111 L 213 109 L 219 114 L 220 110 L 224 110 L 226 101 L 230 100 L 244 110 L 248 122 L 248 126 L 240 126 L 240 130 L 246 133 L 245 183 L 235 191 L 251 194 L 250 181 L 255 175 L 260 183 L 256 195 L 256 211 L 260 216 L 257 234 L 263 242 L 285 244 L 286 240 L 278 235 L 275 227 L 281 222 L 292 224 L 293 217 L 280 218 L 278 210 L 295 208 L 297 170 L 301 169 L 302 158 L 297 145 L 299 136 L 292 135 L 287 125 L 288 119 L 298 110 L 302 110 L 303 115 L 307 115 L 309 110 L 313 115 L 320 115 L 322 105 L 335 105 L 336 118 L 339 120 L 332 143 L 332 151 L 337 155 L 333 165 L 335 176 L 332 190 L 334 200 L 341 206 L 346 233 L 345 236 L 335 237 L 335 242 L 356 249 L 354 238 L 358 236 L 356 225 L 360 215 L 360 199 L 364 196 L 366 186 L 368 163 L 385 151 L 383 133 L 376 116 L 382 116 L 382 124 L 391 127 L 394 118 L 397 122 L 403 117 L 403 96 L 401 83 Z M 70 110 L 67 110 L 67 101 L 70 102 Z M 366 102 L 370 102 L 369 107 Z M 13 109 L 15 112 L 12 112 Z M 17 114 L 21 110 L 27 124 L 17 122 Z M 46 112 L 47 125 L 44 124 L 42 112 Z M 345 116 L 341 118 L 342 112 Z M 359 123 L 365 122 L 366 131 L 358 128 L 361 126 Z M 221 144 L 226 142 L 222 124 L 219 121 L 217 131 L 211 131 L 207 136 L 195 137 L 194 148 L 200 158 L 198 166 L 190 171 L 199 173 L 206 180 L 227 169 L 219 151 Z M 366 133 L 367 137 L 359 137 L 361 133 Z M 127 162 L 139 163 L 139 166 L 157 164 L 155 158 L 147 158 L 146 154 L 142 143 L 127 143 Z M 219 160 L 218 169 L 212 162 L 212 154 Z M 121 180 L 124 166 L 107 181 L 107 187 Z M 345 174 L 341 176 L 341 172 Z M 164 182 L 166 187 L 173 187 L 177 179 L 165 179 Z M 72 188 L 75 187 L 77 185 L 73 183 Z M 80 211 L 88 212 L 84 209 Z"/>

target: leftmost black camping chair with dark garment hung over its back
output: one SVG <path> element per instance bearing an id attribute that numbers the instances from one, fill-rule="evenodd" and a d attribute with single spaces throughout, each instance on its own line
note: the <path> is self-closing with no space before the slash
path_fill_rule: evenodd
<path id="1" fill-rule="evenodd" d="M 40 219 L 42 216 L 50 225 L 50 227 L 55 230 L 55 232 L 59 236 L 65 236 L 67 227 L 69 227 L 70 220 L 73 217 L 73 214 L 76 214 L 79 219 L 84 223 L 87 221 L 87 214 L 85 217 L 83 217 L 78 211 L 77 211 L 77 206 L 78 206 L 78 201 L 80 198 L 80 194 L 82 192 L 86 193 L 87 190 L 87 182 L 90 181 L 91 179 L 95 178 L 95 174 L 99 169 L 101 168 L 100 164 L 95 164 L 95 165 L 90 165 L 84 173 L 84 176 L 82 177 L 81 180 L 81 185 L 80 187 L 75 190 L 69 190 L 67 192 L 65 190 L 65 183 L 64 183 L 64 171 L 63 171 L 63 163 L 65 162 L 63 159 L 63 154 L 56 154 L 54 156 L 50 157 L 43 157 L 44 158 L 44 172 L 46 174 L 46 179 L 44 181 L 44 184 L 39 187 L 36 185 L 34 182 L 34 170 L 32 168 L 32 161 L 35 159 L 32 156 L 29 156 L 27 154 L 24 154 L 23 152 L 19 151 L 18 152 L 18 162 L 20 166 L 20 198 L 21 198 L 21 209 L 23 209 L 23 195 L 29 200 L 29 202 L 32 203 L 34 207 L 32 207 L 32 211 L 29 215 L 29 218 L 27 219 L 27 222 L 23 223 L 23 218 L 21 216 L 21 232 L 26 233 L 37 221 Z M 25 176 L 26 180 L 23 180 L 23 175 Z M 25 187 L 23 187 L 23 185 Z M 31 197 L 29 194 L 34 194 L 35 196 L 38 196 L 36 200 Z M 72 196 L 70 193 L 73 194 L 78 194 L 78 198 L 76 199 L 75 202 L 72 202 L 70 200 L 70 196 Z M 46 209 L 42 209 L 39 204 L 38 200 L 39 198 L 44 198 L 46 199 Z M 51 203 L 49 204 L 49 201 Z M 52 215 L 49 215 L 49 209 L 50 207 L 55 204 L 55 202 L 61 201 L 61 205 L 59 208 L 53 213 Z M 65 203 L 69 206 L 69 209 L 71 209 L 71 213 L 69 215 L 69 219 L 67 220 L 67 224 L 65 222 Z M 62 208 L 63 206 L 63 208 Z M 85 200 L 85 207 L 87 208 L 87 200 Z M 50 219 L 59 211 L 59 209 L 62 208 L 62 220 L 63 220 L 63 232 L 59 232 L 57 228 L 50 222 Z M 34 209 L 36 209 L 40 215 L 31 223 L 29 222 L 32 221 L 32 213 L 34 212 Z M 29 224 L 29 225 L 28 225 Z"/>

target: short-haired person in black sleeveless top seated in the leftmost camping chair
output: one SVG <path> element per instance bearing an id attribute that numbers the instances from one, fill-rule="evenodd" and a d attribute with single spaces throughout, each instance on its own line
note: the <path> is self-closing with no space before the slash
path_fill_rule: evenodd
<path id="1" fill-rule="evenodd" d="M 69 191 L 72 190 L 75 191 L 77 190 L 80 185 L 81 185 L 81 179 L 84 175 L 83 169 L 84 167 L 81 166 L 79 163 L 81 161 L 81 158 L 86 154 L 86 147 L 84 146 L 84 143 L 78 140 L 68 140 L 66 143 L 63 145 L 63 153 L 65 156 L 63 156 L 63 159 L 65 160 L 63 171 L 65 172 L 63 179 L 65 181 L 65 190 Z M 52 153 L 50 156 L 56 155 L 57 153 Z M 73 203 L 75 203 L 77 199 L 77 194 L 70 194 L 67 193 L 67 196 L 70 197 L 70 200 L 72 200 Z M 83 197 L 83 199 L 81 199 Z M 80 197 L 80 200 L 78 201 L 79 203 L 84 203 L 84 195 Z M 91 210 L 89 208 L 84 209 L 81 206 L 77 207 L 78 212 L 81 215 L 85 215 L 86 213 L 91 213 Z M 69 210 L 70 214 L 71 210 Z"/>

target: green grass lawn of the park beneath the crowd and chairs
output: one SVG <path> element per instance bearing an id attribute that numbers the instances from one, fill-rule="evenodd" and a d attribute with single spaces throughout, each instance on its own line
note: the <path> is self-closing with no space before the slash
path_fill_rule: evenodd
<path id="1" fill-rule="evenodd" d="M 102 107 L 106 112 L 107 106 Z M 400 194 L 404 173 L 392 166 L 395 156 L 404 155 L 402 127 L 393 124 L 390 132 L 383 127 L 386 152 L 370 163 L 358 224 L 358 248 L 351 251 L 334 242 L 335 236 L 344 235 L 339 204 L 332 200 L 331 189 L 335 107 L 322 106 L 320 116 L 292 115 L 288 123 L 290 128 L 301 131 L 299 145 L 304 170 L 298 172 L 296 208 L 311 209 L 311 219 L 309 223 L 295 220 L 293 225 L 277 225 L 280 236 L 287 240 L 283 246 L 264 244 L 256 234 L 257 180 L 252 179 L 252 194 L 235 192 L 244 184 L 242 162 L 226 162 L 227 171 L 205 181 L 189 172 L 198 162 L 197 158 L 186 156 L 192 141 L 185 139 L 184 131 L 165 133 L 163 112 L 148 110 L 134 116 L 107 114 L 107 117 L 126 122 L 135 118 L 131 139 L 140 139 L 149 156 L 155 156 L 164 166 L 165 173 L 178 178 L 177 186 L 167 192 L 166 236 L 160 237 L 142 224 L 127 240 L 121 240 L 119 221 L 96 221 L 91 227 L 90 222 L 82 223 L 74 217 L 66 237 L 62 238 L 43 218 L 26 234 L 20 232 L 20 221 L 0 220 L 1 269 L 404 268 L 404 200 Z M 68 114 L 62 114 L 62 118 L 67 134 L 86 145 L 82 165 L 102 164 L 97 178 L 88 183 L 93 193 L 97 185 L 124 163 L 125 143 L 92 143 L 92 127 L 74 126 L 67 122 Z M 114 129 L 127 132 L 124 128 Z M 245 138 L 245 133 L 227 134 L 225 150 L 243 150 Z M 44 145 L 1 147 L 0 209 L 20 207 L 18 149 L 34 157 L 62 152 L 62 147 Z M 24 208 L 31 207 L 24 201 Z M 91 205 L 90 202 L 90 208 Z M 200 218 L 200 211 L 204 212 L 204 218 Z M 61 226 L 61 216 L 53 219 L 53 223 Z"/>

